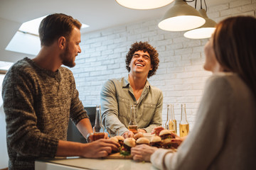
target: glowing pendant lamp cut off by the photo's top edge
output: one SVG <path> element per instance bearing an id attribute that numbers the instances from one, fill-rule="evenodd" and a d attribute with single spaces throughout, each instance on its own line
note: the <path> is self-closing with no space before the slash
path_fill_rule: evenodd
<path id="1" fill-rule="evenodd" d="M 152 9 L 166 6 L 174 0 L 116 0 L 118 4 L 133 9 Z"/>

